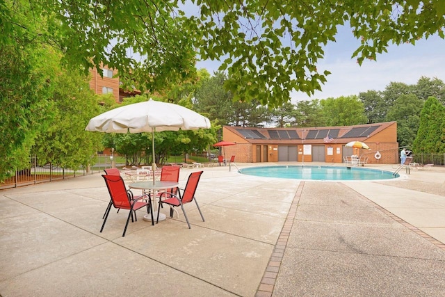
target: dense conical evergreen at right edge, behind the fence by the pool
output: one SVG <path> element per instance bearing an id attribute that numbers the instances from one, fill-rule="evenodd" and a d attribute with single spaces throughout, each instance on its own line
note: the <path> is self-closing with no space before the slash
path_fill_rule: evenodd
<path id="1" fill-rule="evenodd" d="M 429 97 L 420 116 L 419 130 L 412 145 L 417 152 L 445 152 L 445 107 L 435 97 Z"/>

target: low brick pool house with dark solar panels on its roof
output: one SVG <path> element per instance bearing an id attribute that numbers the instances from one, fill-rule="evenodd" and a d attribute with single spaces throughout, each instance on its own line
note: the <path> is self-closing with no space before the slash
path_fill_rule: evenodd
<path id="1" fill-rule="evenodd" d="M 397 122 L 343 127 L 250 128 L 223 126 L 225 156 L 240 163 L 304 161 L 343 163 L 353 154 L 368 156 L 369 164 L 398 163 Z M 370 150 L 345 147 L 362 141 Z"/>

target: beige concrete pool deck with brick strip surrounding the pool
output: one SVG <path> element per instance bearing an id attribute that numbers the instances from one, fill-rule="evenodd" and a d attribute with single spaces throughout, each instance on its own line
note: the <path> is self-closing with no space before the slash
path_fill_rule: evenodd
<path id="1" fill-rule="evenodd" d="M 190 230 L 181 211 L 154 226 L 138 211 L 125 237 L 126 211 L 99 232 L 99 173 L 0 191 L 0 296 L 445 295 L 445 168 L 325 182 L 206 167 L 181 186 L 197 170 L 205 222 L 193 203 Z"/>

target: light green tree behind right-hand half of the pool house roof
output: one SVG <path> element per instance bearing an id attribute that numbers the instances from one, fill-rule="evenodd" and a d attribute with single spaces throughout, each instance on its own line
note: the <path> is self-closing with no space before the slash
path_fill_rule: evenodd
<path id="1" fill-rule="evenodd" d="M 320 105 L 326 126 L 350 126 L 367 122 L 363 103 L 357 96 L 322 99 Z"/>

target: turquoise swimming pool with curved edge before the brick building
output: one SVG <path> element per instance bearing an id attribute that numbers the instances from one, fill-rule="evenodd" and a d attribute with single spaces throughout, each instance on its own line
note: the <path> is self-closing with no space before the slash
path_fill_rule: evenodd
<path id="1" fill-rule="evenodd" d="M 400 176 L 386 170 L 345 166 L 260 166 L 243 168 L 239 172 L 259 177 L 314 180 L 375 180 Z"/>

